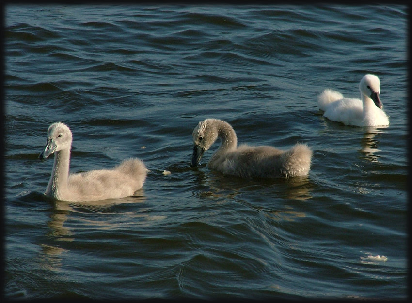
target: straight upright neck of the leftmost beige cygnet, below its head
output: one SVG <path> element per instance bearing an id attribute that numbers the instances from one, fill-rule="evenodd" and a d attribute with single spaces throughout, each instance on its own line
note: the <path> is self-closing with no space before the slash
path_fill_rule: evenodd
<path id="1" fill-rule="evenodd" d="M 46 189 L 46 194 L 51 194 L 59 199 L 67 190 L 70 166 L 70 150 L 64 149 L 54 153 L 53 170 Z"/>

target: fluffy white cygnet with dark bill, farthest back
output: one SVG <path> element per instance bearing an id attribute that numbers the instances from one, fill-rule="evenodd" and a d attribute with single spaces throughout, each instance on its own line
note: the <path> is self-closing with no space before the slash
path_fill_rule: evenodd
<path id="1" fill-rule="evenodd" d="M 323 117 L 353 126 L 387 126 L 388 116 L 382 110 L 380 81 L 372 74 L 365 75 L 359 84 L 362 100 L 344 98 L 337 91 L 324 90 L 317 98 Z"/>

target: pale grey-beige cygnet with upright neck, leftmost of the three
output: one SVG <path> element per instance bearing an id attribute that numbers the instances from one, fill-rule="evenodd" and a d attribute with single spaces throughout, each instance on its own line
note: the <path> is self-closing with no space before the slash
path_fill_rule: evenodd
<path id="1" fill-rule="evenodd" d="M 139 159 L 128 159 L 113 169 L 69 174 L 72 132 L 61 122 L 48 128 L 40 159 L 54 153 L 54 164 L 45 194 L 57 200 L 80 202 L 122 198 L 143 186 L 148 170 Z"/>

